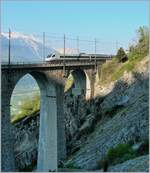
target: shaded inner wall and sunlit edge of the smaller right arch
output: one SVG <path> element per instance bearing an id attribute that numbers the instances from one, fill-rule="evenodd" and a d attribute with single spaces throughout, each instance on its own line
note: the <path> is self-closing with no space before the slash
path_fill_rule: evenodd
<path id="1" fill-rule="evenodd" d="M 74 78 L 74 88 L 72 88 L 72 93 L 74 95 L 80 95 L 82 93 L 85 95 L 86 99 L 90 98 L 91 87 L 88 74 L 80 69 L 71 71 L 71 74 Z"/>

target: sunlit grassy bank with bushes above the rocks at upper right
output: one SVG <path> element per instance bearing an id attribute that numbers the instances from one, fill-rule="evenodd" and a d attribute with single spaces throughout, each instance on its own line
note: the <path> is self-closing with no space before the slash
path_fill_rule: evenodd
<path id="1" fill-rule="evenodd" d="M 107 62 L 98 69 L 100 76 L 99 83 L 106 84 L 111 81 L 118 80 L 125 71 L 134 71 L 135 66 L 148 55 L 149 47 L 149 34 L 147 27 L 140 27 L 137 31 L 138 41 L 136 45 L 129 47 L 129 52 L 127 53 L 128 61 L 125 63 L 118 61 L 123 55 L 123 50 L 118 50 L 116 57 L 113 57 L 112 61 Z"/>

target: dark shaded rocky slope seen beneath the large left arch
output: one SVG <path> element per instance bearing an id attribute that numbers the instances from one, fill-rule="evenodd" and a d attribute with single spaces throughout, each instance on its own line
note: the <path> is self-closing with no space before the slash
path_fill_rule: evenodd
<path id="1" fill-rule="evenodd" d="M 20 171 L 32 171 L 37 162 L 39 113 L 15 124 L 15 163 Z"/>

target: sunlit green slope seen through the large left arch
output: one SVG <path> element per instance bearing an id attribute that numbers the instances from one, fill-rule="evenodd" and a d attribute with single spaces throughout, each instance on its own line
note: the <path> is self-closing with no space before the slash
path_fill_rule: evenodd
<path id="1" fill-rule="evenodd" d="M 11 115 L 11 122 L 15 123 L 26 116 L 36 114 L 40 109 L 40 95 L 36 94 L 32 99 L 22 101 L 18 108 L 18 113 Z"/>

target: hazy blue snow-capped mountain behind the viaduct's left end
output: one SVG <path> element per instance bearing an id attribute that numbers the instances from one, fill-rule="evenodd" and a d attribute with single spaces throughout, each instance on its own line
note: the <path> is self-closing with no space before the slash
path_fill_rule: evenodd
<path id="1" fill-rule="evenodd" d="M 2 62 L 8 62 L 8 33 L 1 33 Z M 55 50 L 50 46 L 44 48 L 45 57 Z M 11 33 L 11 62 L 43 61 L 43 43 L 32 35 L 18 32 Z"/>

